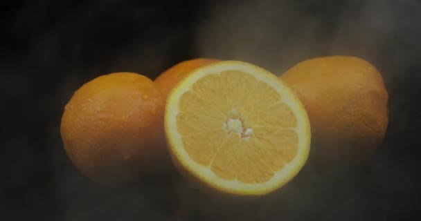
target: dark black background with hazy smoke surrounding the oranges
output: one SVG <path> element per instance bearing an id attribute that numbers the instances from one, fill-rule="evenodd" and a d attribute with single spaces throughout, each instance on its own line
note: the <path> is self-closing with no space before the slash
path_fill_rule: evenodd
<path id="1" fill-rule="evenodd" d="M 420 210 L 421 2 L 0 1 L 0 220 L 416 220 Z M 117 71 L 154 79 L 193 57 L 249 61 L 280 75 L 298 61 L 355 55 L 389 93 L 377 153 L 308 166 L 264 200 L 202 195 L 177 174 L 89 182 L 66 157 L 64 105 Z"/>

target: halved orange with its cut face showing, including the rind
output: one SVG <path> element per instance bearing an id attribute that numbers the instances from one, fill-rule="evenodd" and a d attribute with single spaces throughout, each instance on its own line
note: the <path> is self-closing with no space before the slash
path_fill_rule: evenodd
<path id="1" fill-rule="evenodd" d="M 310 151 L 300 100 L 276 75 L 242 61 L 197 68 L 177 84 L 165 107 L 165 135 L 181 171 L 233 195 L 278 189 Z"/>

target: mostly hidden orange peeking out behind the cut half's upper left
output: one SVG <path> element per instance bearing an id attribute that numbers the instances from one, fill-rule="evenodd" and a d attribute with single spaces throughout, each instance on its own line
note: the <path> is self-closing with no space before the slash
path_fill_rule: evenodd
<path id="1" fill-rule="evenodd" d="M 206 59 L 206 58 L 197 58 L 197 59 L 190 59 L 187 61 L 182 61 L 179 64 L 168 68 L 165 70 L 161 75 L 156 77 L 155 84 L 161 90 L 163 94 L 163 98 L 166 99 L 168 94 L 174 86 L 184 77 L 186 77 L 189 73 L 191 73 L 196 68 L 200 68 L 201 66 L 206 66 L 208 64 L 213 64 L 217 61 L 217 59 Z"/>

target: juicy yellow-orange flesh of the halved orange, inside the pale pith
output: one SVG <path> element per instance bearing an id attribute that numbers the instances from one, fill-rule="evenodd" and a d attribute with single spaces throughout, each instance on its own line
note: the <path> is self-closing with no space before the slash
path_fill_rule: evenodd
<path id="1" fill-rule="evenodd" d="M 177 130 L 184 148 L 225 180 L 270 180 L 297 154 L 296 127 L 279 93 L 240 70 L 206 75 L 180 97 Z"/>

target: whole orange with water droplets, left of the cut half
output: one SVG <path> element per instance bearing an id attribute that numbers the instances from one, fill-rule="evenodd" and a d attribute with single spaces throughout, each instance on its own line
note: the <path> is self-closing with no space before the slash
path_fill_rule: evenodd
<path id="1" fill-rule="evenodd" d="M 93 180 L 136 178 L 160 166 L 165 151 L 161 93 L 135 73 L 84 84 L 66 104 L 60 129 L 67 155 Z"/>

